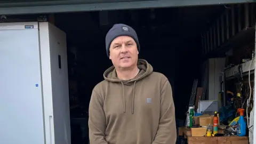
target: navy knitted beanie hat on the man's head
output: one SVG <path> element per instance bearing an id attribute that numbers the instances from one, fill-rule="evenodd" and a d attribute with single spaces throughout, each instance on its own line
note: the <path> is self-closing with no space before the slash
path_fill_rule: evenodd
<path id="1" fill-rule="evenodd" d="M 124 25 L 122 23 L 115 24 L 107 33 L 106 35 L 106 50 L 107 50 L 107 55 L 109 57 L 109 47 L 111 42 L 118 36 L 130 36 L 134 39 L 134 41 L 137 44 L 137 49 L 140 51 L 140 44 L 139 44 L 139 39 L 136 34 L 136 31 L 127 25 Z"/>

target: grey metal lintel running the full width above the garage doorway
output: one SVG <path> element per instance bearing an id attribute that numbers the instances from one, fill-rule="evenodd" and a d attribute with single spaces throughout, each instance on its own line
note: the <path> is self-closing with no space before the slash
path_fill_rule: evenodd
<path id="1" fill-rule="evenodd" d="M 11 2 L 5 0 L 0 2 L 0 15 L 145 9 L 251 2 L 255 2 L 255 0 L 16 0 Z"/>

